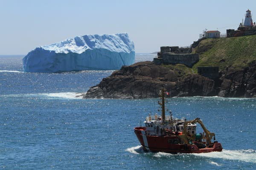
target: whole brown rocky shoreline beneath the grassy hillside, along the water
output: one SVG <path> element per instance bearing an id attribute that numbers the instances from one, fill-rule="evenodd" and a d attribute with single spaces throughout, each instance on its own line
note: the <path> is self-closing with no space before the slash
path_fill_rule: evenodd
<path id="1" fill-rule="evenodd" d="M 256 97 L 256 63 L 249 67 L 220 71 L 219 79 L 198 74 L 184 74 L 182 70 L 138 62 L 122 66 L 111 76 L 91 87 L 83 98 L 142 99 L 156 98 L 164 87 L 174 96 Z"/>

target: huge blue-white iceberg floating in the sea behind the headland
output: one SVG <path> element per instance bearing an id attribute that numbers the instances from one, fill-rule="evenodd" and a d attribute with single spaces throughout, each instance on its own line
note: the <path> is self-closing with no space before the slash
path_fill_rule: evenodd
<path id="1" fill-rule="evenodd" d="M 23 58 L 25 72 L 57 73 L 118 70 L 134 64 L 134 43 L 127 33 L 75 37 L 30 51 Z"/>

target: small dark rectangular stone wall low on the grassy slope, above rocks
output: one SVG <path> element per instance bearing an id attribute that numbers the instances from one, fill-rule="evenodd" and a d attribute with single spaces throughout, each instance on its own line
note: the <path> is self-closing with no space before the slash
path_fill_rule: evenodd
<path id="1" fill-rule="evenodd" d="M 208 77 L 210 79 L 217 79 L 219 77 L 219 67 L 198 67 L 198 74 L 204 77 Z"/>

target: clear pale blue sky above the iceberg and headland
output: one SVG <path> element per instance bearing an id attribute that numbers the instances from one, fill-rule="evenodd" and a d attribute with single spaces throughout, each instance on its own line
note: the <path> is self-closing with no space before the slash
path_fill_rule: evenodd
<path id="1" fill-rule="evenodd" d="M 84 34 L 127 32 L 137 53 L 190 45 L 203 29 L 237 29 L 255 0 L 0 0 L 0 54 Z M 256 16 L 253 16 L 253 22 Z"/>

